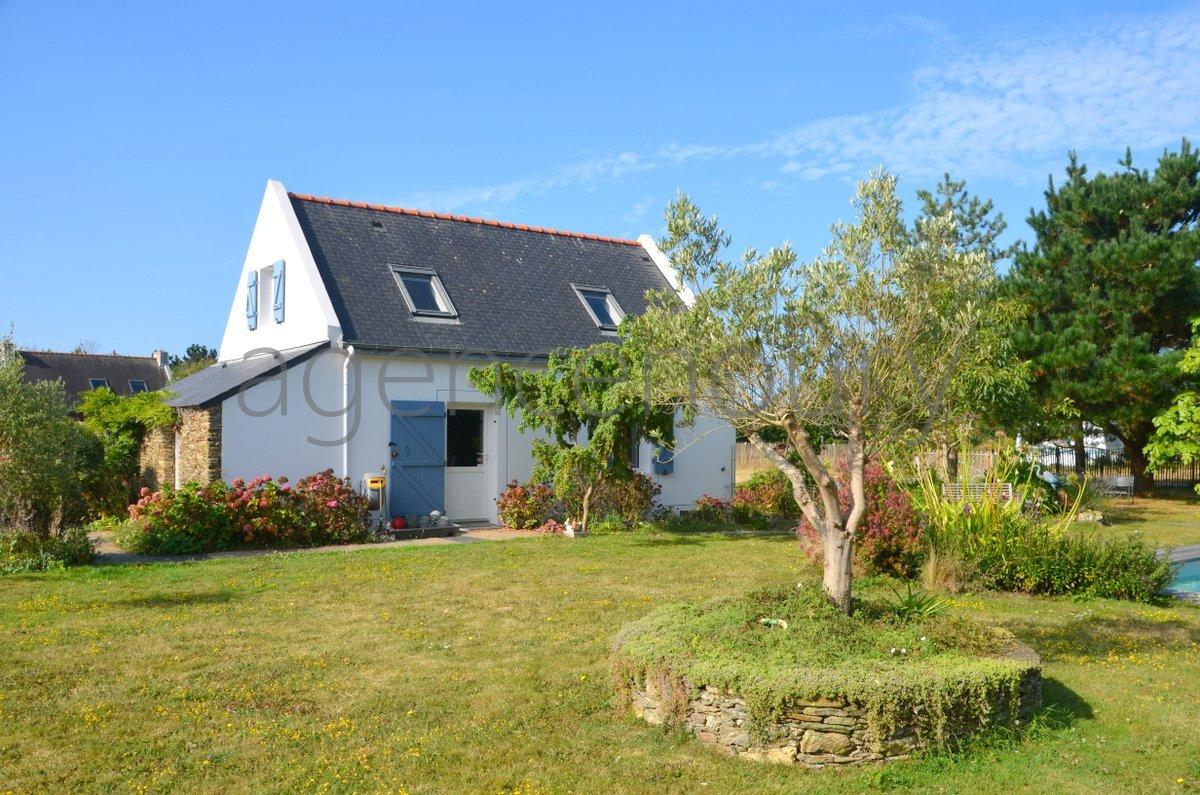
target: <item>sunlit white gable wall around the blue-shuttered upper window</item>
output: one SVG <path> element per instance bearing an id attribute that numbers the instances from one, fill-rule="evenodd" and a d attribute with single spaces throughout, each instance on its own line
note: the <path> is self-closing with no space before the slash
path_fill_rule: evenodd
<path id="1" fill-rule="evenodd" d="M 284 309 L 283 322 L 276 323 L 271 265 L 280 259 L 287 263 Z M 259 271 L 258 328 L 253 331 L 246 325 L 246 279 L 252 270 Z M 218 358 L 228 361 L 263 349 L 287 351 L 340 335 L 337 316 L 317 273 L 317 263 L 292 209 L 287 189 L 282 183 L 270 180 L 226 319 Z"/>

